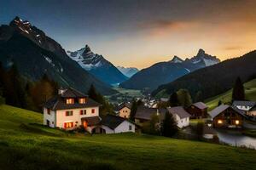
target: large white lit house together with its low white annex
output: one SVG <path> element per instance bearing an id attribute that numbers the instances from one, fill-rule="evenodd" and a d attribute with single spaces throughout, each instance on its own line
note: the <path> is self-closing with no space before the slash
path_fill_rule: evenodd
<path id="1" fill-rule="evenodd" d="M 119 116 L 99 116 L 100 104 L 73 88 L 61 89 L 44 105 L 44 125 L 71 130 L 84 127 L 90 133 L 135 132 L 135 123 Z"/>

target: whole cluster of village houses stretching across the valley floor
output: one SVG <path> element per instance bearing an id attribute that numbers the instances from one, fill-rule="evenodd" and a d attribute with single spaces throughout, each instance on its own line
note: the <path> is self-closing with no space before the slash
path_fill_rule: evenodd
<path id="1" fill-rule="evenodd" d="M 256 128 L 256 102 L 235 100 L 232 105 L 219 104 L 212 111 L 203 102 L 196 102 L 188 107 L 160 106 L 169 99 L 137 99 L 135 115 L 131 118 L 132 103 L 116 105 L 114 113 L 100 115 L 101 104 L 88 95 L 73 88 L 61 88 L 58 95 L 44 105 L 44 125 L 68 131 L 84 129 L 85 133 L 145 133 L 148 122 L 158 117 L 155 128 L 165 121 L 170 114 L 180 132 L 195 135 L 188 130 L 193 122 L 203 122 L 202 137 L 213 139 L 214 129 L 228 129 L 241 132 L 242 129 Z M 134 109 L 133 109 L 134 110 Z M 189 133 L 188 133 L 189 132 Z"/>

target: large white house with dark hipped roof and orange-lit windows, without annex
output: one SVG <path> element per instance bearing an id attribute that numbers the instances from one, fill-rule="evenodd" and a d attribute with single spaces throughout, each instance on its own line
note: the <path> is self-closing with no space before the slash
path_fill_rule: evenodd
<path id="1" fill-rule="evenodd" d="M 100 120 L 99 106 L 99 103 L 73 88 L 61 89 L 44 104 L 44 125 L 64 129 L 86 125 L 91 130 L 95 125 L 86 121 L 89 117 Z"/>

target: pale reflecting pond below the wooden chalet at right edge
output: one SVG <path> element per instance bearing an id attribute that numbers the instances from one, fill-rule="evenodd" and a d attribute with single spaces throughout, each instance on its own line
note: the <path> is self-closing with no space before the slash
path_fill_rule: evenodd
<path id="1" fill-rule="evenodd" d="M 256 138 L 245 136 L 239 131 L 216 129 L 216 133 L 220 143 L 256 149 Z"/>

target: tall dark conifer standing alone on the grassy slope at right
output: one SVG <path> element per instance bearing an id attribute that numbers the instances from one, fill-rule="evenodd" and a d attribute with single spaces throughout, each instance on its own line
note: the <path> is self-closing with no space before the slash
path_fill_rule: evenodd
<path id="1" fill-rule="evenodd" d="M 244 100 L 244 99 L 245 99 L 244 87 L 243 87 L 240 77 L 237 77 L 235 85 L 233 87 L 232 101 Z"/>

